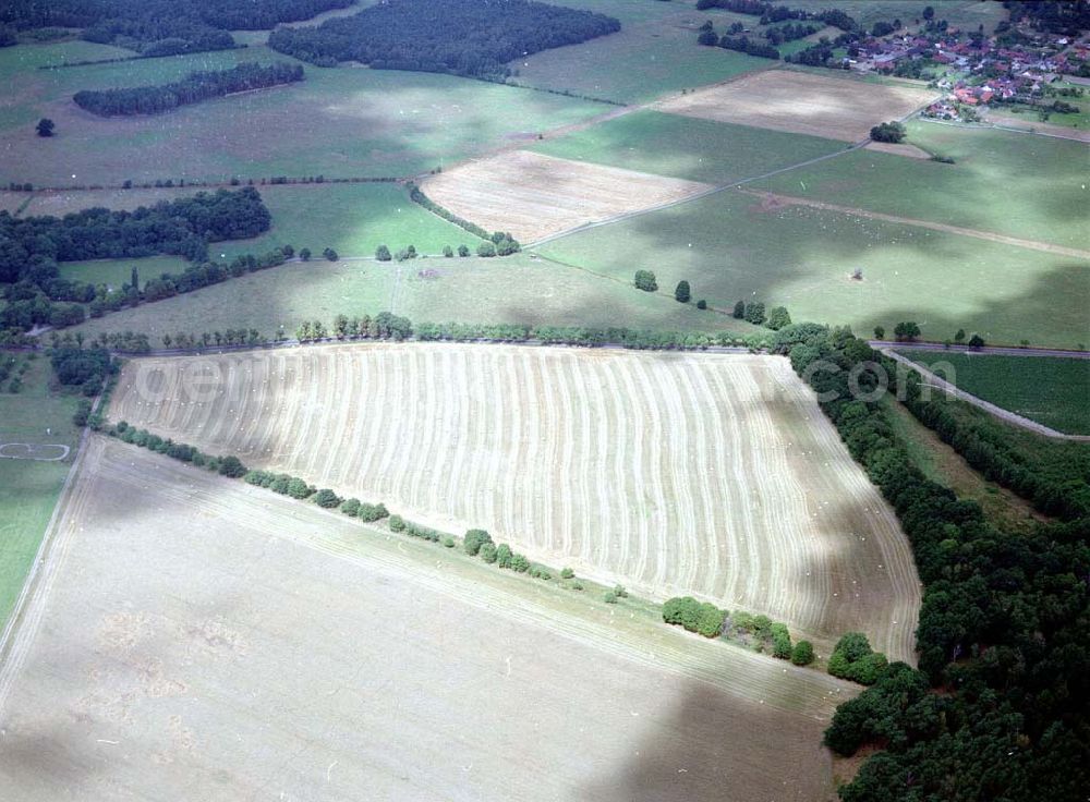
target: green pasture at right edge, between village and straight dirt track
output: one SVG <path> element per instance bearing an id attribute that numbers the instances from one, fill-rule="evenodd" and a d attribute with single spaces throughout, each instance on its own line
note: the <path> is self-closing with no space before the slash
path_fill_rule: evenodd
<path id="1" fill-rule="evenodd" d="M 1087 247 L 1087 145 L 916 121 L 908 142 L 954 165 L 856 150 L 755 187 L 1068 247 Z"/>

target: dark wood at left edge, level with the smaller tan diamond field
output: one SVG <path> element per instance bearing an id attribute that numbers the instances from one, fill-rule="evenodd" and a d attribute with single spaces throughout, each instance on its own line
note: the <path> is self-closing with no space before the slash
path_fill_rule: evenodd
<path id="1" fill-rule="evenodd" d="M 0 211 L 0 287 L 7 301 L 0 329 L 83 319 L 78 304 L 95 300 L 96 288 L 61 278 L 58 262 L 156 254 L 203 260 L 209 242 L 256 236 L 270 223 L 252 187 L 202 192 L 133 211 L 96 208 L 61 218 Z"/>

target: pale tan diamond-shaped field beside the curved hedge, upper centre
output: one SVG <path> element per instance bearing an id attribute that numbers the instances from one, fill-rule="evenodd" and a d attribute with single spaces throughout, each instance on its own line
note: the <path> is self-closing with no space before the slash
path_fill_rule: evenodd
<path id="1" fill-rule="evenodd" d="M 707 184 L 512 150 L 427 179 L 440 206 L 521 242 L 692 197 Z"/>

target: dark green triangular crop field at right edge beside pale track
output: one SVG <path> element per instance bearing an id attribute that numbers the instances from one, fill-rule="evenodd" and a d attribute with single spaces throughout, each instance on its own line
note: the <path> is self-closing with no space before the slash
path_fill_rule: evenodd
<path id="1" fill-rule="evenodd" d="M 1069 435 L 1090 435 L 1090 361 L 905 351 L 913 362 L 937 369 L 950 382 L 997 406 Z"/>

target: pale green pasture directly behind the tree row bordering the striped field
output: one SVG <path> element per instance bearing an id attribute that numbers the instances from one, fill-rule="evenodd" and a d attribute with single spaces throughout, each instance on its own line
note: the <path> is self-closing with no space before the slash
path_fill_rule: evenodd
<path id="1" fill-rule="evenodd" d="M 739 333 L 756 329 L 665 292 L 649 294 L 608 278 L 522 254 L 505 258 L 420 258 L 402 263 L 292 263 L 166 301 L 108 314 L 80 330 L 143 331 L 159 345 L 165 333 L 281 326 L 303 319 L 391 309 L 413 320 L 629 326 L 656 330 Z"/>

